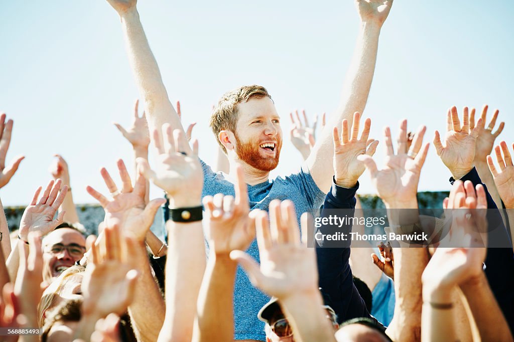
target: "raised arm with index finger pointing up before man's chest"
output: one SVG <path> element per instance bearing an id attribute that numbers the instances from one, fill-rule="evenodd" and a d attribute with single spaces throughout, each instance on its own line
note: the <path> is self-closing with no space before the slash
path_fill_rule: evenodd
<path id="1" fill-rule="evenodd" d="M 237 262 L 232 250 L 246 251 L 255 238 L 248 217 L 248 191 L 243 168 L 237 166 L 235 199 L 217 194 L 204 197 L 209 261 L 198 295 L 193 341 L 231 341 L 234 338 L 233 294 Z"/>

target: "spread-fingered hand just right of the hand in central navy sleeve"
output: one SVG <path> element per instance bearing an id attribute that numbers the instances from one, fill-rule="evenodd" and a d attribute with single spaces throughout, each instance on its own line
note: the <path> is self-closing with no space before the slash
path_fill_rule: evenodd
<path id="1" fill-rule="evenodd" d="M 427 158 L 429 144 L 425 144 L 421 149 L 426 127 L 421 126 L 411 147 L 407 152 L 407 120 L 400 124 L 400 134 L 398 137 L 398 153 L 395 155 L 391 130 L 389 127 L 384 129 L 386 141 L 386 166 L 378 170 L 373 158 L 368 155 L 359 155 L 357 159 L 364 162 L 370 171 L 371 180 L 377 189 L 378 196 L 389 207 L 410 207 L 416 198 L 417 186 L 421 167 Z"/>

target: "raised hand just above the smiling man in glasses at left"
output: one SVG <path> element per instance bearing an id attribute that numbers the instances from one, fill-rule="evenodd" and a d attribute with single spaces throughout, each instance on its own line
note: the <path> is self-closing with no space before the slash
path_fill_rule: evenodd
<path id="1" fill-rule="evenodd" d="M 68 192 L 68 186 L 63 185 L 61 188 L 61 184 L 60 179 L 55 183 L 51 180 L 39 202 L 38 197 L 42 187 L 38 187 L 35 191 L 32 202 L 25 208 L 20 221 L 19 233 L 21 239 L 27 241 L 29 232 L 39 232 L 41 235 L 46 235 L 63 223 L 65 211 L 60 212 L 57 219 L 53 219 Z"/>

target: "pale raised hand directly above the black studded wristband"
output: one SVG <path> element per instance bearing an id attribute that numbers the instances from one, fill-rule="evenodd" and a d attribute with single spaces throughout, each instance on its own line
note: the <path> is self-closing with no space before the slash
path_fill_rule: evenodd
<path id="1" fill-rule="evenodd" d="M 137 159 L 142 174 L 168 194 L 171 206 L 200 205 L 204 174 L 198 159 L 198 142 L 193 142 L 193 151 L 188 154 L 185 152 L 188 141 L 180 130 L 175 129 L 172 134 L 170 124 L 164 124 L 162 135 L 164 139 L 161 140 L 160 132 L 154 131 L 153 141 L 157 149 L 154 169 L 150 168 L 147 160 Z"/>

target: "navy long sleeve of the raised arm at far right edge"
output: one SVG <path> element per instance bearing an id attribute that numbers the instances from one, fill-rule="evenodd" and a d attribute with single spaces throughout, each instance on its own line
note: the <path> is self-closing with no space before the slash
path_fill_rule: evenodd
<path id="1" fill-rule="evenodd" d="M 510 246 L 510 235 L 502 217 L 494 203 L 491 195 L 487 191 L 487 186 L 482 183 L 476 169 L 473 168 L 462 181 L 471 181 L 473 185 L 482 184 L 487 196 L 487 223 L 489 227 L 488 248 L 485 259 L 485 274 L 494 297 L 498 301 L 505 319 L 507 320 L 510 331 L 514 332 L 514 254 L 511 247 L 494 248 L 499 242 Z M 455 179 L 450 178 L 453 184 Z M 496 210 L 494 210 L 496 209 Z"/>

